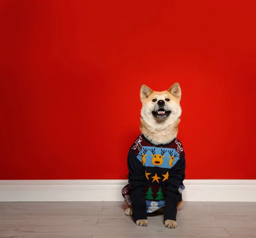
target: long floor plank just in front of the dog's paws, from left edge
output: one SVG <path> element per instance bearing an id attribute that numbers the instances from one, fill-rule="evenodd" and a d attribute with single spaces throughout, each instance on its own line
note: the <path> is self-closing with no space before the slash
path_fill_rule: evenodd
<path id="1" fill-rule="evenodd" d="M 0 235 L 150 235 L 170 236 L 230 236 L 223 227 L 182 227 L 177 229 L 168 229 L 164 226 L 0 226 Z"/>

